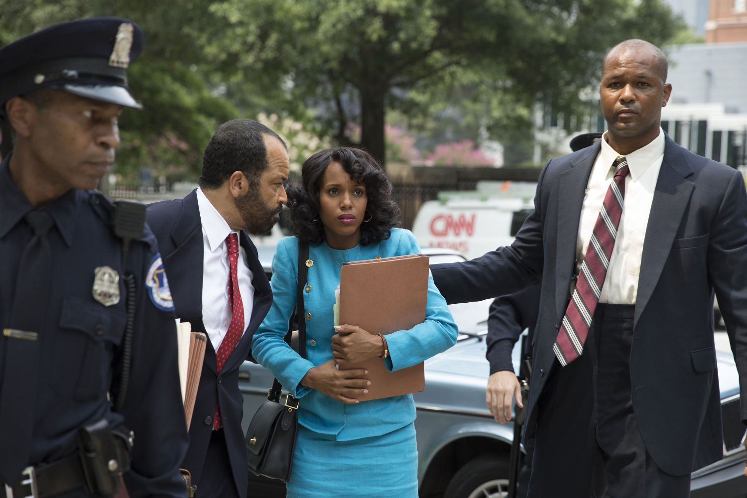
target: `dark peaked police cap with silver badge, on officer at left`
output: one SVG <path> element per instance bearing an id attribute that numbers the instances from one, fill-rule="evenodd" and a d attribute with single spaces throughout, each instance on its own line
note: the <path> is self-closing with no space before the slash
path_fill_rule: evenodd
<path id="1" fill-rule="evenodd" d="M 126 70 L 144 44 L 140 26 L 115 17 L 76 19 L 29 34 L 0 49 L 0 107 L 51 87 L 141 109 L 129 93 Z"/>

